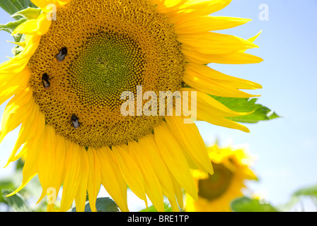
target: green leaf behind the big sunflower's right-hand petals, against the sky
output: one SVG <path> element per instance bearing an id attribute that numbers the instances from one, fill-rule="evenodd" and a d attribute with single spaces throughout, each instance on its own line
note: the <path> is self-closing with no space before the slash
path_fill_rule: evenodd
<path id="1" fill-rule="evenodd" d="M 244 123 L 257 123 L 259 121 L 267 121 L 272 119 L 277 119 L 279 116 L 273 112 L 271 109 L 257 104 L 257 98 L 235 98 L 235 97 L 217 97 L 211 95 L 215 100 L 221 102 L 221 104 L 225 105 L 229 109 L 232 109 L 236 112 L 253 112 L 251 114 L 247 114 L 239 117 L 229 117 L 227 119 L 231 119 L 237 122 Z"/>

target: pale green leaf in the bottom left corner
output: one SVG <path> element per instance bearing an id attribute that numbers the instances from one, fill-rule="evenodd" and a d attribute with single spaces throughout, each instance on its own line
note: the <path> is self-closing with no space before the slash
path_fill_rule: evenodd
<path id="1" fill-rule="evenodd" d="M 28 205 L 25 203 L 23 196 L 21 194 L 15 194 L 13 196 L 6 197 L 8 194 L 11 194 L 13 190 L 11 189 L 2 189 L 1 190 L 4 201 L 8 203 L 8 206 L 12 208 L 15 212 L 31 212 Z"/>

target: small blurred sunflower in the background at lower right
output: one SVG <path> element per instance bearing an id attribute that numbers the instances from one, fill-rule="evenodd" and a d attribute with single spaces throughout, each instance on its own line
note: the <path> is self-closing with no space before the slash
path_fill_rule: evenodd
<path id="1" fill-rule="evenodd" d="M 253 157 L 245 148 L 219 148 L 217 144 L 207 148 L 214 168 L 213 175 L 200 169 L 192 170 L 198 190 L 198 200 L 188 196 L 185 210 L 188 212 L 229 212 L 230 203 L 243 196 L 246 180 L 256 180 L 251 169 Z"/>

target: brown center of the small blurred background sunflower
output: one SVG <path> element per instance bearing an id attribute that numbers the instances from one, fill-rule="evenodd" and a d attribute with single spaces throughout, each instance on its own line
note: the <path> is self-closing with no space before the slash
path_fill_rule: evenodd
<path id="1" fill-rule="evenodd" d="M 212 201 L 229 188 L 234 174 L 222 164 L 212 163 L 214 174 L 198 182 L 198 195 Z"/>

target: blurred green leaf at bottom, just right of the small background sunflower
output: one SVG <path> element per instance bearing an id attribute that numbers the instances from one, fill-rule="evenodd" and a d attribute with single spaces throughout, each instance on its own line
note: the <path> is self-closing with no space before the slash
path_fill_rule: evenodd
<path id="1" fill-rule="evenodd" d="M 247 197 L 236 198 L 231 202 L 231 209 L 234 212 L 278 212 L 270 204 L 261 204 L 258 199 Z"/>

